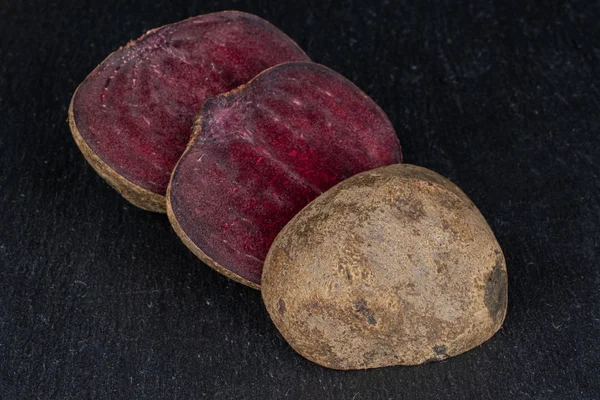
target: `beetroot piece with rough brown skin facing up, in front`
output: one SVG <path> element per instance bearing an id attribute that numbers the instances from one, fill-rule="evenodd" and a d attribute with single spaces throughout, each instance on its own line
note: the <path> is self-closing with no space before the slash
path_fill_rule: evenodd
<path id="1" fill-rule="evenodd" d="M 415 365 L 468 351 L 502 325 L 502 250 L 453 183 L 393 165 L 298 213 L 265 261 L 262 296 L 301 355 L 335 369 Z"/>

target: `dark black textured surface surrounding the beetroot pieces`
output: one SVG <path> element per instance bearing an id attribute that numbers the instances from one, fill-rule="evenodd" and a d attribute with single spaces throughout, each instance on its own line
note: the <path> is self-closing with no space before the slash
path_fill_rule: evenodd
<path id="1" fill-rule="evenodd" d="M 0 398 L 600 397 L 597 1 L 1 1 Z M 388 113 L 407 162 L 462 187 L 502 245 L 504 327 L 441 363 L 340 372 L 260 293 L 85 162 L 71 94 L 146 30 L 256 13 Z"/>

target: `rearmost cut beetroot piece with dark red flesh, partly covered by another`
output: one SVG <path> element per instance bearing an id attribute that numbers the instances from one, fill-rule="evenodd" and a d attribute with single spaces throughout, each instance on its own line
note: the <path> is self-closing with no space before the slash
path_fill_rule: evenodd
<path id="1" fill-rule="evenodd" d="M 69 125 L 104 179 L 134 205 L 164 212 L 169 177 L 206 99 L 274 65 L 306 60 L 259 17 L 227 11 L 190 18 L 108 56 L 73 95 Z"/>

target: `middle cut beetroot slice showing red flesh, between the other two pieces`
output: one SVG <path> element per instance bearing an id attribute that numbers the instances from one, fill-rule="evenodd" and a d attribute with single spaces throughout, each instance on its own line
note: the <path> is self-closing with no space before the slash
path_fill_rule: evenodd
<path id="1" fill-rule="evenodd" d="M 167 213 L 205 263 L 259 288 L 269 246 L 305 205 L 359 172 L 401 161 L 385 113 L 314 63 L 273 67 L 202 108 Z"/>

